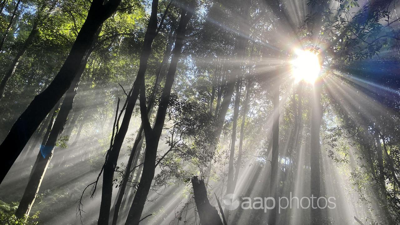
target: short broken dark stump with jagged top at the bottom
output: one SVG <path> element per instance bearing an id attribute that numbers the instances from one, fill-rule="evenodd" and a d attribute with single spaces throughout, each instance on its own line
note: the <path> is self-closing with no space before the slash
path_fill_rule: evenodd
<path id="1" fill-rule="evenodd" d="M 218 211 L 208 201 L 206 185 L 197 177 L 192 178 L 194 201 L 201 225 L 222 225 Z"/>

